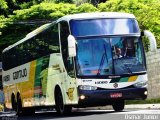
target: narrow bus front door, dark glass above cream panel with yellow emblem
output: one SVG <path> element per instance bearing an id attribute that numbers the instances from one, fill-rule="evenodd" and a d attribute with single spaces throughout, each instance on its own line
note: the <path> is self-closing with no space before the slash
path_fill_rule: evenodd
<path id="1" fill-rule="evenodd" d="M 64 67 L 66 69 L 65 74 L 63 74 L 65 86 L 64 91 L 66 92 L 66 100 L 68 103 L 77 103 L 77 87 L 75 79 L 75 68 L 74 68 L 74 58 L 68 56 L 68 42 L 67 38 L 69 36 L 69 27 L 67 22 L 60 23 L 60 40 L 61 40 L 61 51 L 62 58 L 64 62 Z"/>

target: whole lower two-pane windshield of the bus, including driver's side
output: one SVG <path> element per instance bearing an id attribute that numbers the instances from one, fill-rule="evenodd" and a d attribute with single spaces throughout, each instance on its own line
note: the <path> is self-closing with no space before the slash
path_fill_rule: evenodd
<path id="1" fill-rule="evenodd" d="M 140 37 L 77 39 L 77 75 L 123 75 L 145 71 Z"/>

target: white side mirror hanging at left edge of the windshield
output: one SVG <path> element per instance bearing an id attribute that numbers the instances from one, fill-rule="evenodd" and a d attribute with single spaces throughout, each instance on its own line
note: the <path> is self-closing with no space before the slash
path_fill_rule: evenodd
<path id="1" fill-rule="evenodd" d="M 76 40 L 72 35 L 68 36 L 68 54 L 69 57 L 76 56 Z"/>

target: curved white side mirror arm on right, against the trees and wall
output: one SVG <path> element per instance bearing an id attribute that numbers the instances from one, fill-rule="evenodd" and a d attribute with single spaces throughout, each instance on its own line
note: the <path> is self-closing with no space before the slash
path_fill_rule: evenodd
<path id="1" fill-rule="evenodd" d="M 157 42 L 156 42 L 154 35 L 148 30 L 144 30 L 144 32 L 142 32 L 141 35 L 146 36 L 149 39 L 150 51 L 156 51 L 157 50 Z"/>

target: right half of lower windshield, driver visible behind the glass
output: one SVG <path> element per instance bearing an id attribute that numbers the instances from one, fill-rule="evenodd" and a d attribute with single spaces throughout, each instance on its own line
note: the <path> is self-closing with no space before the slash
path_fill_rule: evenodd
<path id="1" fill-rule="evenodd" d="M 115 74 L 145 71 L 142 46 L 137 38 L 112 38 Z"/>

